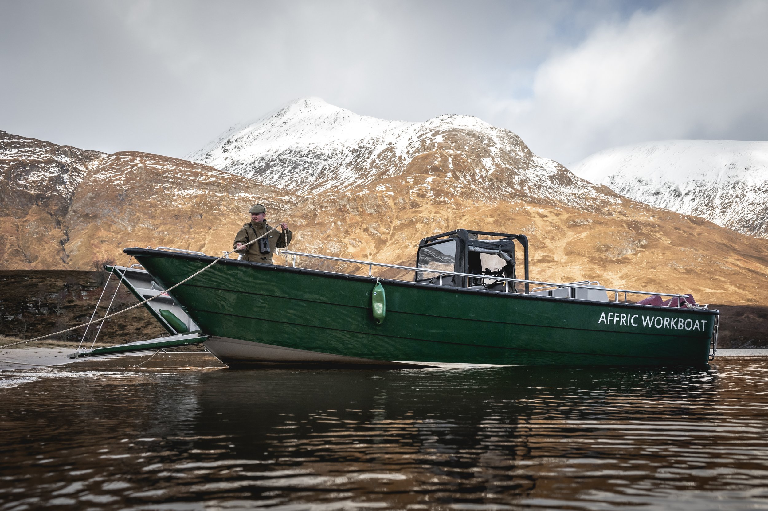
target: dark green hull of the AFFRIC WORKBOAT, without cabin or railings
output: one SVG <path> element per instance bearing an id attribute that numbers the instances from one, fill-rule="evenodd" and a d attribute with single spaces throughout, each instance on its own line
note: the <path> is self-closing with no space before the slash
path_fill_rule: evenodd
<path id="1" fill-rule="evenodd" d="M 214 258 L 126 249 L 165 288 Z M 717 311 L 588 302 L 223 259 L 170 294 L 230 366 L 703 365 Z M 678 326 L 680 328 L 678 328 Z"/>

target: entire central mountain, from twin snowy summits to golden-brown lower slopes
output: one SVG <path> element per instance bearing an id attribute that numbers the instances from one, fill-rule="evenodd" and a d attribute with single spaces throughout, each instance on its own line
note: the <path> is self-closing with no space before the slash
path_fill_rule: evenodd
<path id="1" fill-rule="evenodd" d="M 475 117 L 387 121 L 309 98 L 189 157 L 306 196 L 285 217 L 300 252 L 412 265 L 419 239 L 463 227 L 524 233 L 531 275 L 548 282 L 687 289 L 710 303 L 759 300 L 768 285 L 768 240 L 593 185 Z M 728 288 L 713 286 L 713 266 Z"/>

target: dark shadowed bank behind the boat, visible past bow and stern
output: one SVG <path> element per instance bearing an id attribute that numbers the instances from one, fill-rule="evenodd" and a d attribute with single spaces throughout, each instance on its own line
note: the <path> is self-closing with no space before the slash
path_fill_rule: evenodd
<path id="1" fill-rule="evenodd" d="M 13 338 L 35 338 L 51 331 L 79 325 L 91 318 L 104 287 L 105 272 L 75 270 L 0 271 L 0 345 Z M 104 294 L 111 299 L 114 280 Z M 127 308 L 137 300 L 121 286 L 112 311 Z M 103 315 L 105 305 L 99 309 Z M 710 305 L 720 310 L 720 348 L 768 348 L 768 307 L 758 305 Z M 88 345 L 95 330 L 88 332 Z M 83 330 L 73 331 L 30 346 L 76 348 Z M 97 345 L 121 344 L 161 337 L 167 332 L 143 307 L 108 319 Z M 4 338 L 5 336 L 5 338 Z M 185 347 L 196 351 L 200 348 Z"/>

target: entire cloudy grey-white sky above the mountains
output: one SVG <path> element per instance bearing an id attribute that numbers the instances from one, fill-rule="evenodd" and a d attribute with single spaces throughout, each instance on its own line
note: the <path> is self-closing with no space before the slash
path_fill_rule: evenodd
<path id="1" fill-rule="evenodd" d="M 0 0 L 0 130 L 183 157 L 296 97 L 469 114 L 573 163 L 768 140 L 768 2 Z"/>

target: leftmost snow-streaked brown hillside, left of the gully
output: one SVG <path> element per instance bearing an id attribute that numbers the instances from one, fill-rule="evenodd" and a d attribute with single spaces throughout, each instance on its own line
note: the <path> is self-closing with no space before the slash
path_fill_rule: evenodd
<path id="1" fill-rule="evenodd" d="M 0 269 L 66 268 L 72 193 L 104 156 L 0 131 Z"/>

